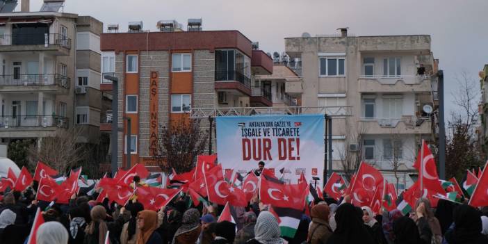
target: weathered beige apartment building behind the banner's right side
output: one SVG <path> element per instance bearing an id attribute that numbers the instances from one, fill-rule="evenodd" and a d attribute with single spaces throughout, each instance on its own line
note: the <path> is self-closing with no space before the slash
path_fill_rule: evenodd
<path id="1" fill-rule="evenodd" d="M 391 182 L 395 168 L 398 187 L 405 188 L 421 140 L 432 140 L 436 129 L 432 74 L 438 61 L 430 36 L 347 31 L 285 39 L 286 54 L 301 63 L 302 106 L 327 106 L 343 115 L 332 120 L 333 170 L 341 172 L 345 162 L 357 158 L 376 165 Z"/>

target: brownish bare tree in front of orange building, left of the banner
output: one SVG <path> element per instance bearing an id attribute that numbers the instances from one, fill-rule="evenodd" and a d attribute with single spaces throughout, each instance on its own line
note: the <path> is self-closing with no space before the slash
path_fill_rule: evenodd
<path id="1" fill-rule="evenodd" d="M 161 169 L 170 173 L 188 172 L 196 158 L 204 153 L 208 132 L 200 129 L 200 120 L 182 118 L 170 127 L 162 127 L 158 135 L 155 158 L 165 158 Z"/>

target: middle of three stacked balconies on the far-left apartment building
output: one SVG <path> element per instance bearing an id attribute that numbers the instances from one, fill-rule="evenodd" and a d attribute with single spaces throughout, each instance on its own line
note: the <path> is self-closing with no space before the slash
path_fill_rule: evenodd
<path id="1" fill-rule="evenodd" d="M 8 74 L 0 76 L 1 92 L 66 92 L 70 77 L 61 74 Z"/>

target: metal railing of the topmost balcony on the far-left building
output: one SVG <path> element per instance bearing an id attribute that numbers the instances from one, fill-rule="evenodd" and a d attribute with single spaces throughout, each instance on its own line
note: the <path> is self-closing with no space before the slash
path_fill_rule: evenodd
<path id="1" fill-rule="evenodd" d="M 48 47 L 50 44 L 71 49 L 71 39 L 61 34 L 0 35 L 0 46 L 44 45 Z"/>

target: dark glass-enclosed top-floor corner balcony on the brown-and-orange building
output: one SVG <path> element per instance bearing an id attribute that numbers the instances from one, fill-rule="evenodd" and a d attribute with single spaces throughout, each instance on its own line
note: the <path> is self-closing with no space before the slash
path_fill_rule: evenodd
<path id="1" fill-rule="evenodd" d="M 234 70 L 215 70 L 215 90 L 234 92 L 237 95 L 251 96 L 251 79 Z"/>

